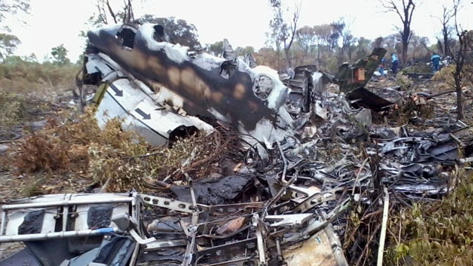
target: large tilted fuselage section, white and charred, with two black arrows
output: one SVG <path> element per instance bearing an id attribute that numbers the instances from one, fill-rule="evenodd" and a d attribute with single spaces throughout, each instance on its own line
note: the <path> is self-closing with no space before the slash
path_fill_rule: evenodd
<path id="1" fill-rule="evenodd" d="M 286 80 L 290 89 L 277 71 L 238 59 L 227 41 L 220 58 L 163 41 L 164 34 L 151 24 L 88 33 L 84 83 L 99 85 L 93 101 L 100 123 L 124 118 L 155 145 L 217 124 L 271 143 L 295 134 L 300 117 L 314 109 L 312 94 L 329 81 L 315 66 L 300 66 L 299 76 Z M 372 67 L 359 68 L 355 83 L 369 80 L 384 53 L 377 49 L 368 57 L 364 63 Z"/>

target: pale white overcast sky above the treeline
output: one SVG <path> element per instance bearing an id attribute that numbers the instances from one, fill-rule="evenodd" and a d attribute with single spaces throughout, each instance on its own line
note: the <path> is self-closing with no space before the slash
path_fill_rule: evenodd
<path id="1" fill-rule="evenodd" d="M 299 1 L 301 26 L 328 24 L 345 17 L 352 22 L 350 29 L 355 36 L 374 39 L 395 33 L 394 25 L 401 25 L 397 14 L 380 11 L 377 0 L 283 0 L 289 8 Z M 433 16 L 440 16 L 441 5 L 451 5 L 452 1 L 423 0 L 414 11 L 412 30 L 433 42 L 440 29 Z M 468 14 L 473 13 L 473 4 L 463 1 L 459 22 L 464 29 L 471 29 L 473 18 L 469 19 Z M 117 3 L 118 8 L 123 1 L 111 2 Z M 233 47 L 251 45 L 256 49 L 265 46 L 272 15 L 268 0 L 135 0 L 134 9 L 136 18 L 148 13 L 195 24 L 202 44 L 228 38 Z M 84 49 L 79 31 L 87 29 L 85 23 L 95 11 L 95 0 L 31 0 L 31 15 L 24 19 L 26 25 L 17 18 L 7 18 L 5 22 L 22 41 L 16 54 L 34 53 L 41 60 L 51 47 L 64 43 L 69 58 L 75 62 Z"/>

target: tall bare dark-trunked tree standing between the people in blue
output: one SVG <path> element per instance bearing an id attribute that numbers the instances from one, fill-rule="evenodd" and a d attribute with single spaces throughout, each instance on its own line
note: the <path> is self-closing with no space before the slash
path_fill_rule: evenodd
<path id="1" fill-rule="evenodd" d="M 414 13 L 415 4 L 413 0 L 379 0 L 379 2 L 385 11 L 398 14 L 399 18 L 403 22 L 403 28 L 398 29 L 403 43 L 401 59 L 403 64 L 405 64 L 407 61 L 407 48 L 409 46 L 410 38 L 412 37 L 410 24 L 412 22 L 412 14 Z"/>

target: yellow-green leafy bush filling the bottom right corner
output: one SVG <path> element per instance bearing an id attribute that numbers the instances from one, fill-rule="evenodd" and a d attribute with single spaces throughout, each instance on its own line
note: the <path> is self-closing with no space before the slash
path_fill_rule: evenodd
<path id="1" fill-rule="evenodd" d="M 468 266 L 473 262 L 473 174 L 459 170 L 448 196 L 414 203 L 389 219 L 388 265 Z"/>

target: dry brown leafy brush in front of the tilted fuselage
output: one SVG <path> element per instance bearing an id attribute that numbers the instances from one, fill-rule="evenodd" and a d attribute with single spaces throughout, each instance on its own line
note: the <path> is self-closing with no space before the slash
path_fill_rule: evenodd
<path id="1" fill-rule="evenodd" d="M 194 178 L 218 171 L 225 155 L 238 149 L 237 137 L 228 134 L 195 134 L 172 148 L 153 147 L 122 130 L 118 119 L 100 129 L 88 109 L 66 123 L 50 119 L 43 130 L 16 143 L 7 160 L 21 184 L 12 189 L 24 196 L 77 192 L 92 184 L 107 192 L 155 190 L 167 176 L 182 179 L 182 171 Z"/>

